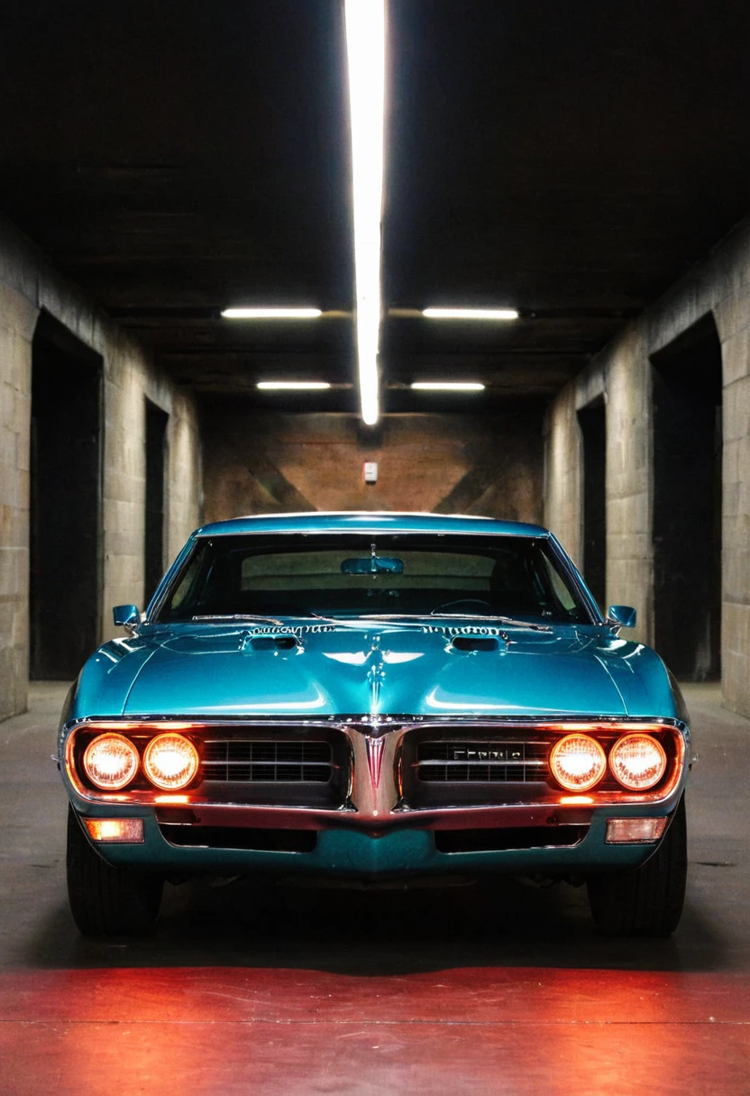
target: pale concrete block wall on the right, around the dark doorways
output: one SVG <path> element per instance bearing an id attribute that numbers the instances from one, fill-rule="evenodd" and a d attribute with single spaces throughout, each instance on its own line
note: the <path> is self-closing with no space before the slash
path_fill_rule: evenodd
<path id="1" fill-rule="evenodd" d="M 635 605 L 654 639 L 650 356 L 713 313 L 724 379 L 721 665 L 726 707 L 750 716 L 750 219 L 632 322 L 576 377 L 545 420 L 545 521 L 580 561 L 577 411 L 606 403 L 606 601 Z"/>

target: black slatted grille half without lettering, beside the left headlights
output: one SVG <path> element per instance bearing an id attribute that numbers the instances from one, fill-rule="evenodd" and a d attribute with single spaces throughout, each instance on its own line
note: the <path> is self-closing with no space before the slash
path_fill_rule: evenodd
<path id="1" fill-rule="evenodd" d="M 328 784 L 332 775 L 328 742 L 209 739 L 204 747 L 204 780 Z"/>

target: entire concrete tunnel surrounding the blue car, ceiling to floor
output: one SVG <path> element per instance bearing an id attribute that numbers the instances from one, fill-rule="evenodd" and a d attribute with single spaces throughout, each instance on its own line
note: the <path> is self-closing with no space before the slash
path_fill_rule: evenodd
<path id="1" fill-rule="evenodd" d="M 748 1092 L 750 9 L 383 10 L 366 359 L 343 2 L 3 5 L 9 1094 Z M 701 753 L 671 941 L 521 888 L 175 889 L 78 939 L 69 683 L 196 526 L 306 511 L 541 523 L 637 609 Z"/>

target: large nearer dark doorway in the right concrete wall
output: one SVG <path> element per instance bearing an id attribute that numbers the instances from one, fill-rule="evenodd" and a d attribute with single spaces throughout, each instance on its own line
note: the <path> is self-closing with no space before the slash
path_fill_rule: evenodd
<path id="1" fill-rule="evenodd" d="M 704 317 L 651 358 L 655 646 L 685 681 L 720 678 L 721 346 Z"/>

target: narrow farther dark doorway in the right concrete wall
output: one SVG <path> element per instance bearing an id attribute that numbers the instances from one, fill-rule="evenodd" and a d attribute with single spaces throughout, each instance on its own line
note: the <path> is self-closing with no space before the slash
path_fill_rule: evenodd
<path id="1" fill-rule="evenodd" d="M 606 609 L 606 409 L 599 397 L 578 412 L 583 439 L 583 574 Z"/>

